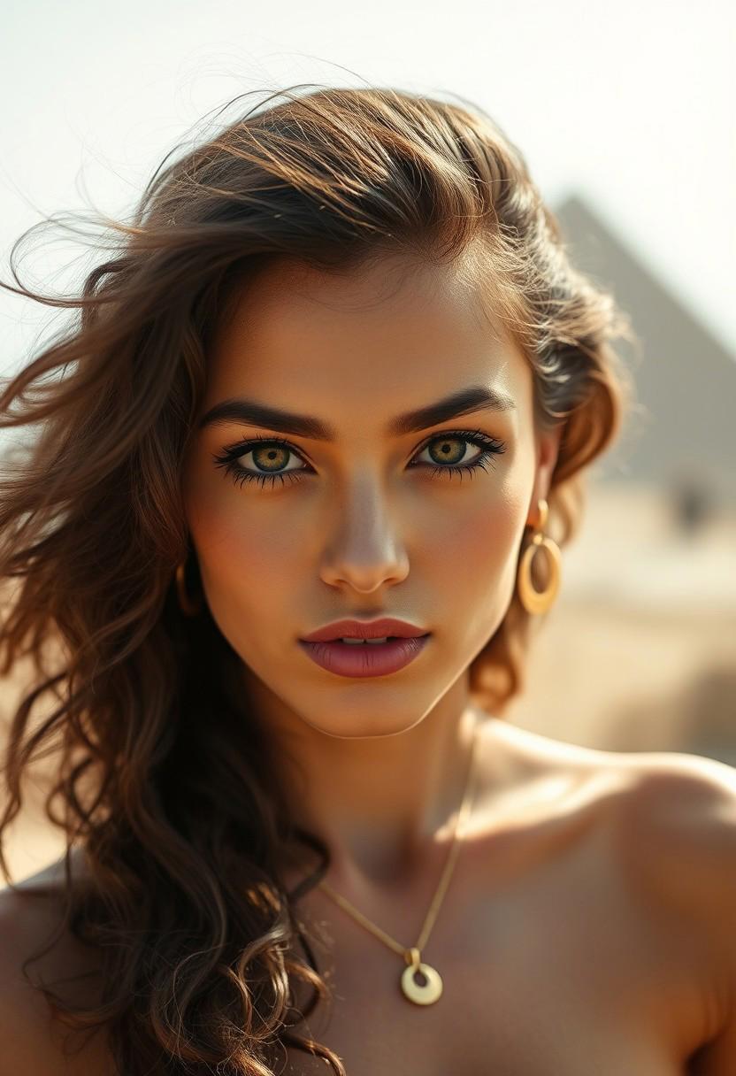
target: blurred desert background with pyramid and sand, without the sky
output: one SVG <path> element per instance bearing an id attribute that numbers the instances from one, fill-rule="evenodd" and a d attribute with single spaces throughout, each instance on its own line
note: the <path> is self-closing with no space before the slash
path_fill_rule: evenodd
<path id="1" fill-rule="evenodd" d="M 610 751 L 736 766 L 736 363 L 577 195 L 556 211 L 581 268 L 628 312 L 638 402 L 591 471 L 557 603 L 508 720 Z M 24 670 L 0 692 L 4 734 Z M 62 851 L 41 811 L 43 760 L 6 854 L 23 878 Z"/>

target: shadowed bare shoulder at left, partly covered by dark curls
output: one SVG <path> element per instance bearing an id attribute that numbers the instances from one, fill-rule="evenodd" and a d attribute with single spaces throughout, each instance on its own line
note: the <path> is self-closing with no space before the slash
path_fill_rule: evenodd
<path id="1" fill-rule="evenodd" d="M 61 874 L 62 861 L 24 879 L 16 888 L 0 890 L 0 1042 L 3 1047 L 0 1076 L 16 1076 L 17 1073 L 47 1076 L 114 1074 L 102 1035 L 90 1037 L 86 1044 L 82 1036 L 66 1038 L 69 1029 L 52 1019 L 43 993 L 34 986 L 42 980 L 62 997 L 85 1004 L 90 997 L 89 993 L 79 993 L 77 987 L 65 988 L 61 981 L 65 976 L 91 972 L 95 967 L 94 954 L 68 932 L 62 931 L 58 943 L 38 961 L 29 961 L 52 942 L 59 926 Z"/>

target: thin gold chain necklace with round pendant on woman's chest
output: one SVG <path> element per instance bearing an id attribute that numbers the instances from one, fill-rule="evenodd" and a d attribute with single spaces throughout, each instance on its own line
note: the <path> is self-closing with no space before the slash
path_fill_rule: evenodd
<path id="1" fill-rule="evenodd" d="M 328 886 L 326 881 L 320 881 L 317 884 L 321 889 L 327 893 L 348 915 L 352 916 L 362 926 L 370 931 L 379 940 L 383 942 L 384 945 L 397 952 L 407 963 L 400 978 L 400 987 L 404 992 L 405 997 L 408 997 L 410 1002 L 414 1002 L 416 1005 L 431 1005 L 438 1001 L 442 995 L 442 979 L 440 978 L 439 972 L 431 967 L 429 964 L 422 962 L 422 949 L 424 949 L 429 937 L 429 933 L 435 925 L 435 920 L 442 904 L 442 900 L 447 892 L 448 886 L 450 884 L 450 878 L 455 866 L 455 860 L 457 859 L 457 853 L 459 851 L 459 844 L 457 837 L 463 830 L 465 822 L 467 820 L 468 811 L 470 809 L 470 799 L 472 793 L 472 776 L 475 773 L 475 761 L 476 761 L 476 742 L 478 740 L 478 728 L 480 721 L 476 721 L 476 726 L 472 735 L 472 742 L 470 745 L 470 760 L 468 762 L 467 777 L 465 781 L 465 792 L 463 794 L 463 803 L 461 805 L 459 811 L 457 812 L 457 821 L 455 822 L 455 830 L 452 838 L 452 845 L 450 847 L 450 852 L 448 853 L 448 859 L 444 864 L 444 869 L 442 870 L 442 876 L 439 880 L 439 884 L 431 898 L 431 904 L 429 905 L 429 910 L 427 911 L 424 924 L 420 931 L 420 936 L 416 939 L 416 945 L 411 948 L 400 945 L 395 938 L 382 931 L 380 926 L 372 923 L 367 916 L 364 916 L 362 911 L 351 904 L 344 896 L 340 893 L 336 893 L 331 886 Z M 417 973 L 424 978 L 423 982 L 416 981 Z"/>

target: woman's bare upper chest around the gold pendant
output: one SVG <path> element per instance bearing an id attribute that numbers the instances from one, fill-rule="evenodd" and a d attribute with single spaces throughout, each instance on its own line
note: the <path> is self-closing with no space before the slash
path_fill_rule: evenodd
<path id="1" fill-rule="evenodd" d="M 400 957 L 315 894 L 314 951 L 332 1001 L 299 1030 L 348 1076 L 685 1076 L 700 1034 L 699 954 L 681 924 L 637 900 L 605 840 L 522 861 L 490 868 L 482 901 L 462 883 L 445 897 L 422 954 L 443 981 L 427 1006 L 401 993 Z M 408 921 L 401 909 L 395 921 Z M 327 1071 L 288 1050 L 284 1072 Z"/>

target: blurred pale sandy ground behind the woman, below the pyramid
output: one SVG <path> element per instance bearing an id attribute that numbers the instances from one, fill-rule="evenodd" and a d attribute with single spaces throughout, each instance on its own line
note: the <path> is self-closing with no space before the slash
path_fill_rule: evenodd
<path id="1" fill-rule="evenodd" d="M 561 595 L 508 720 L 586 747 L 736 766 L 736 513 L 688 536 L 659 494 L 594 492 L 563 556 Z M 3 717 L 18 683 L 0 690 Z M 63 848 L 40 813 L 42 768 L 37 782 L 6 844 L 16 878 Z"/>

